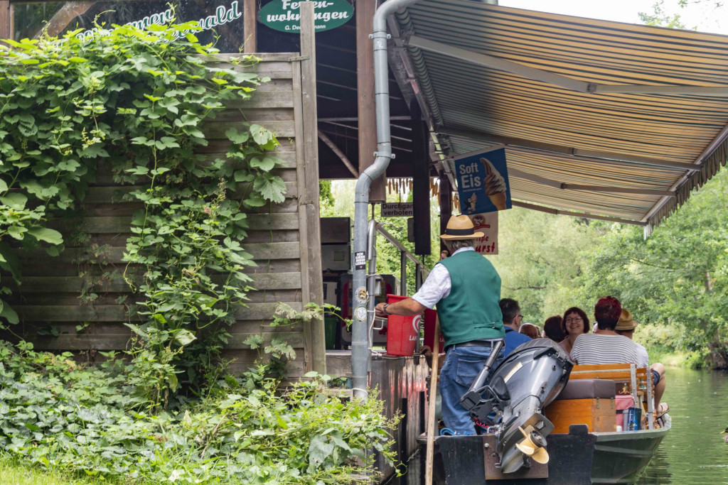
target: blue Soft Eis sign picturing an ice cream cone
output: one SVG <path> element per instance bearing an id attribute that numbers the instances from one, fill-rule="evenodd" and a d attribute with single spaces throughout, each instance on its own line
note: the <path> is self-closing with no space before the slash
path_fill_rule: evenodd
<path id="1" fill-rule="evenodd" d="M 510 209 L 510 185 L 505 148 L 456 156 L 455 172 L 460 212 L 475 215 Z"/>

